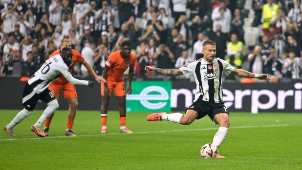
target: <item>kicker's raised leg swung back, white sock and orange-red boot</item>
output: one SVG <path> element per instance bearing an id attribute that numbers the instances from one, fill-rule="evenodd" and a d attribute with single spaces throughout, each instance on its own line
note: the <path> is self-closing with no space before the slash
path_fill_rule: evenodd
<path id="1" fill-rule="evenodd" d="M 181 113 L 152 113 L 147 117 L 148 121 L 168 120 L 182 125 L 190 125 L 197 118 L 198 113 L 194 110 L 188 110 L 185 115 Z"/>

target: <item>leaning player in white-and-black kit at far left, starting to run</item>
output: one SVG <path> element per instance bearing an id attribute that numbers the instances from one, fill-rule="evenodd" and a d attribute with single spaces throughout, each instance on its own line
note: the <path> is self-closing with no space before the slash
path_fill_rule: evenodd
<path id="1" fill-rule="evenodd" d="M 23 91 L 22 103 L 24 109 L 17 114 L 17 116 L 6 126 L 4 131 L 9 137 L 15 136 L 13 128 L 19 124 L 25 117 L 29 116 L 35 109 L 39 100 L 47 104 L 47 108 L 39 118 L 36 124 L 31 127 L 31 131 L 38 134 L 40 137 L 45 137 L 40 127 L 43 122 L 59 108 L 59 103 L 55 96 L 48 89 L 48 85 L 57 79 L 61 74 L 67 79 L 68 82 L 74 85 L 86 85 L 92 88 L 94 82 L 78 80 L 71 76 L 68 66 L 72 62 L 72 51 L 70 48 L 63 48 L 61 56 L 55 55 L 45 61 L 43 66 L 32 76 L 25 85 Z"/>

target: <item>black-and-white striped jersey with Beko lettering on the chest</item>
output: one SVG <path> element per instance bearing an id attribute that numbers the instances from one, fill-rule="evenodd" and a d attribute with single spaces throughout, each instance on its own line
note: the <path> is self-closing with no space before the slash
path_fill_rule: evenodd
<path id="1" fill-rule="evenodd" d="M 231 64 L 220 58 L 215 58 L 211 63 L 201 58 L 179 68 L 183 76 L 194 75 L 196 85 L 199 87 L 194 102 L 201 97 L 202 100 L 213 103 L 222 102 L 223 72 L 230 74 L 234 69 Z"/>

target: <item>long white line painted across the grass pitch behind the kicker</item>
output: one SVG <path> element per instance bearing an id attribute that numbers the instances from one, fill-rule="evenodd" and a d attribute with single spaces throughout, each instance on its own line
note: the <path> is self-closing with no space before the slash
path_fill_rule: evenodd
<path id="1" fill-rule="evenodd" d="M 263 125 L 263 126 L 237 126 L 230 127 L 229 129 L 244 129 L 244 128 L 268 128 L 268 127 L 280 127 L 280 126 L 294 126 L 294 125 Z M 300 126 L 300 125 L 298 125 Z M 118 134 L 143 134 L 143 133 L 163 133 L 163 132 L 185 132 L 185 131 L 210 131 L 217 130 L 218 128 L 206 128 L 206 129 L 182 129 L 182 130 L 170 130 L 170 131 L 149 131 L 149 132 L 133 132 L 133 133 L 107 133 L 107 134 L 86 134 L 77 136 L 50 136 L 50 137 L 36 137 L 36 138 L 10 138 L 0 139 L 0 141 L 8 140 L 34 140 L 34 139 L 52 139 L 52 138 L 64 138 L 64 137 L 87 137 L 87 136 L 106 136 L 106 135 L 118 135 Z"/>

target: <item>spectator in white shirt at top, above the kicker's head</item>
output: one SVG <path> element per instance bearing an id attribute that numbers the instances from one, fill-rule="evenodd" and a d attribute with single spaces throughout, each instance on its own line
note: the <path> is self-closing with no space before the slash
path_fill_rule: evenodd
<path id="1" fill-rule="evenodd" d="M 222 33 L 229 33 L 231 30 L 231 11 L 226 7 L 226 2 L 221 0 L 219 7 L 212 12 L 213 31 L 216 32 L 216 25 L 220 24 Z"/>

